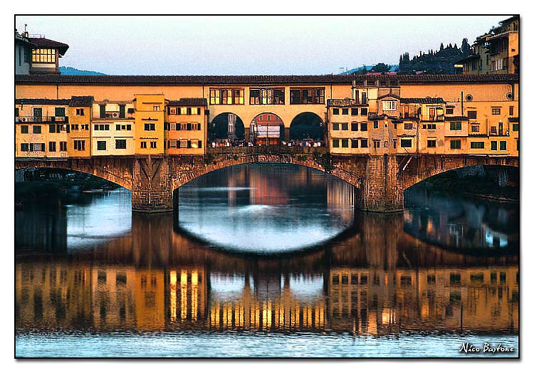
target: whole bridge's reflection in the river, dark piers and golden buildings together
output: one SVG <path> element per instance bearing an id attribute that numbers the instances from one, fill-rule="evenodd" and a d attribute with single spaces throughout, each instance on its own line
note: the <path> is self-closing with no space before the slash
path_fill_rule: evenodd
<path id="1" fill-rule="evenodd" d="M 366 214 L 323 251 L 270 259 L 211 251 L 166 219 L 134 218 L 131 236 L 98 250 L 18 261 L 17 328 L 518 330 L 518 256 L 442 250 L 399 216 Z"/>

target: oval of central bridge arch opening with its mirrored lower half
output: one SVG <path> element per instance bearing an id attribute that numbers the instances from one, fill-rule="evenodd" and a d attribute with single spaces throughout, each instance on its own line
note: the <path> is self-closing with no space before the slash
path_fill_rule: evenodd
<path id="1" fill-rule="evenodd" d="M 335 238 L 352 226 L 356 196 L 332 174 L 275 162 L 217 169 L 173 194 L 179 231 L 255 254 L 304 250 Z"/>

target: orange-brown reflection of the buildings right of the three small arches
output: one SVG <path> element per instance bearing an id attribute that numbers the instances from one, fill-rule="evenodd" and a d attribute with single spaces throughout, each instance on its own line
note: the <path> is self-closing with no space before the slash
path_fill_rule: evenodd
<path id="1" fill-rule="evenodd" d="M 330 270 L 328 321 L 359 335 L 518 330 L 518 267 Z"/>

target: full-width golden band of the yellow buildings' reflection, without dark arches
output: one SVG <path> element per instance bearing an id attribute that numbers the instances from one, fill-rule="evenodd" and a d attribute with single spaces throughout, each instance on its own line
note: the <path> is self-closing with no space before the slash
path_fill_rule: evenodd
<path id="1" fill-rule="evenodd" d="M 518 330 L 518 267 L 380 270 L 323 275 L 209 273 L 83 263 L 16 265 L 18 329 L 160 331 Z"/>

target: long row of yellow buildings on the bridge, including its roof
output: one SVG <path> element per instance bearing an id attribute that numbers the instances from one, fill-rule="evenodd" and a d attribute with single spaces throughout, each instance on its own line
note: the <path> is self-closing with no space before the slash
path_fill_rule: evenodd
<path id="1" fill-rule="evenodd" d="M 201 155 L 227 113 L 245 140 L 262 113 L 286 140 L 306 113 L 336 155 L 517 156 L 518 92 L 514 74 L 16 75 L 16 157 Z"/>

